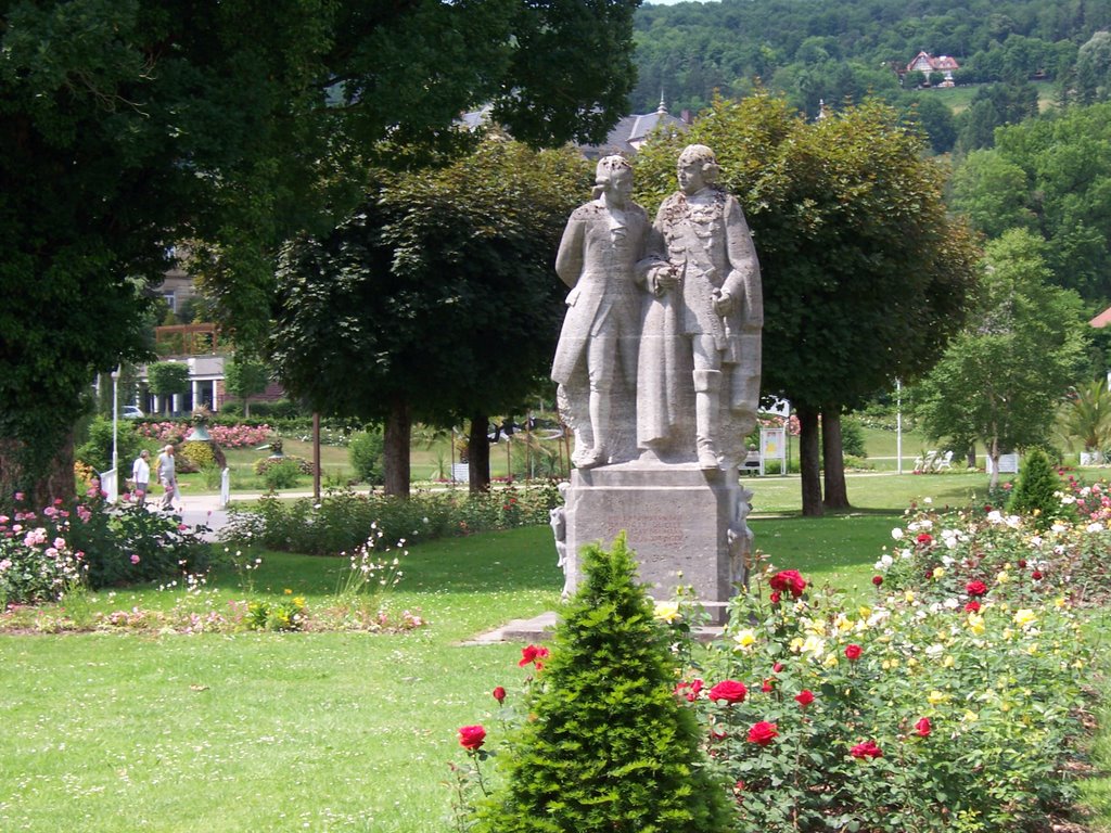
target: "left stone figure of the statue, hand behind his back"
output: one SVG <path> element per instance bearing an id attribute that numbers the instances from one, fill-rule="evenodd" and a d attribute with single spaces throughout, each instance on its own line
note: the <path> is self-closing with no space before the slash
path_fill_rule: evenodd
<path id="1" fill-rule="evenodd" d="M 634 267 L 644 255 L 648 215 L 630 200 L 632 168 L 622 157 L 598 163 L 594 199 L 568 220 L 556 271 L 571 288 L 552 380 L 560 413 L 574 431 L 580 469 L 633 455 L 638 337 L 643 293 Z"/>

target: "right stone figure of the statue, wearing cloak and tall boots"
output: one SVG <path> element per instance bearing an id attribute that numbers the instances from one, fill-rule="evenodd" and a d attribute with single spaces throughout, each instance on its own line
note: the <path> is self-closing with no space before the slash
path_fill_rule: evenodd
<path id="1" fill-rule="evenodd" d="M 679 191 L 660 205 L 639 269 L 644 309 L 637 441 L 644 456 L 738 463 L 760 398 L 763 295 L 744 213 L 717 187 L 703 144 L 679 155 Z M 693 436 L 691 428 L 693 426 Z"/>

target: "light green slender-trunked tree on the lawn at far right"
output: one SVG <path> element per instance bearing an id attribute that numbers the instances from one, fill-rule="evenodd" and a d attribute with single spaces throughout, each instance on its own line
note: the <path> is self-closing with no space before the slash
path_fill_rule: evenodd
<path id="1" fill-rule="evenodd" d="M 1008 231 L 985 253 L 982 295 L 915 392 L 927 433 L 987 446 L 991 485 L 999 455 L 1048 439 L 1058 405 L 1084 360 L 1080 298 L 1051 285 L 1043 243 Z"/>

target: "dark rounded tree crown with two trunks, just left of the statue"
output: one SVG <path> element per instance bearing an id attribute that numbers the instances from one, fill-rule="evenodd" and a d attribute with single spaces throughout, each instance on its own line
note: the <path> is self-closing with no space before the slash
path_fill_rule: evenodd
<path id="1" fill-rule="evenodd" d="M 469 419 L 471 484 L 489 483 L 489 414 L 520 405 L 551 361 L 552 261 L 589 174 L 570 151 L 492 138 L 441 170 L 378 171 L 354 215 L 284 251 L 279 375 L 314 410 L 384 421 L 389 493 L 409 493 L 414 419 Z"/>

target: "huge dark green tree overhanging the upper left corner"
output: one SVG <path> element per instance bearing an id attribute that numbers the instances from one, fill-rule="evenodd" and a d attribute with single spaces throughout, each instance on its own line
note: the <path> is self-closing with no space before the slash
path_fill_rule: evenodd
<path id="1" fill-rule="evenodd" d="M 72 489 L 80 395 L 144 358 L 172 244 L 259 341 L 280 241 L 347 215 L 374 142 L 427 159 L 487 102 L 529 142 L 600 140 L 637 2 L 0 0 L 0 490 Z"/>

